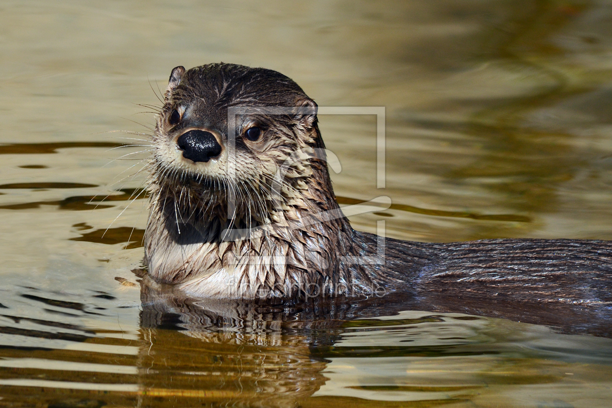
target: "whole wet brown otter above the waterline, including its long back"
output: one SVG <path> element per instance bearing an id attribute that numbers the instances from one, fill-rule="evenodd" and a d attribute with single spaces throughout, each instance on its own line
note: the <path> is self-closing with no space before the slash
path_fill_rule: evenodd
<path id="1" fill-rule="evenodd" d="M 316 103 L 278 72 L 176 67 L 153 142 L 144 262 L 189 294 L 612 302 L 612 242 L 379 245 L 354 231 L 332 190 Z"/>

